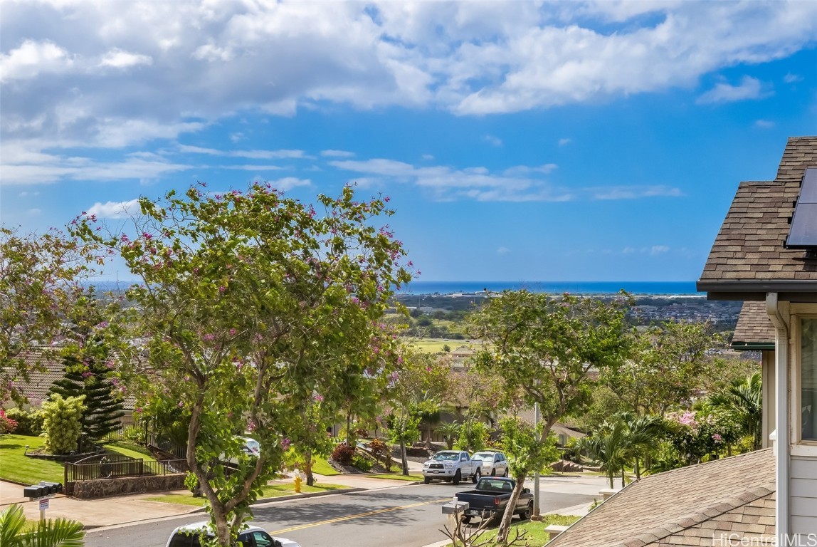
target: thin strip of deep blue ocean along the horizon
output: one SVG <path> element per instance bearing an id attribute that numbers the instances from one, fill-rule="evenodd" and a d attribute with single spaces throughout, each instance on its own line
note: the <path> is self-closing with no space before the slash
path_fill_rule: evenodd
<path id="1" fill-rule="evenodd" d="M 526 289 L 548 294 L 616 294 L 624 289 L 631 294 L 703 294 L 695 290 L 694 281 L 412 281 L 398 294 L 474 294 L 485 289 L 497 293 Z"/>

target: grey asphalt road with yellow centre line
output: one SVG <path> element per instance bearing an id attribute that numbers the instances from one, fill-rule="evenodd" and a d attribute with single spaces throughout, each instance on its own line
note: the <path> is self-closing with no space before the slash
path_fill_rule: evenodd
<path id="1" fill-rule="evenodd" d="M 422 547 L 445 536 L 440 505 L 471 484 L 446 483 L 397 486 L 383 490 L 326 495 L 257 505 L 253 524 L 273 536 L 296 540 L 302 547 Z M 592 503 L 593 496 L 540 489 L 542 513 Z M 181 524 L 207 518 L 204 513 L 167 518 L 132 526 L 91 530 L 87 547 L 163 547 Z"/>

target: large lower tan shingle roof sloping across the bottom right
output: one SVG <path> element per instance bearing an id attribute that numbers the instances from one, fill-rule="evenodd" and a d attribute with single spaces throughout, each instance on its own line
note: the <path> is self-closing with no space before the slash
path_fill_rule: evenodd
<path id="1" fill-rule="evenodd" d="M 721 531 L 774 536 L 774 492 L 772 449 L 690 465 L 632 482 L 547 545 L 713 545 L 701 541 Z"/>

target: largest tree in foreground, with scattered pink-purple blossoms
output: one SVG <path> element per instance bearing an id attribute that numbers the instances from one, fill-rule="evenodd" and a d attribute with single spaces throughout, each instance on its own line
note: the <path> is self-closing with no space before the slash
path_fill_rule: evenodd
<path id="1" fill-rule="evenodd" d="M 187 463 L 208 500 L 218 545 L 230 545 L 289 442 L 308 438 L 315 393 L 340 407 L 349 374 L 386 381 L 395 341 L 378 328 L 392 288 L 410 274 L 404 250 L 375 217 L 387 198 L 319 195 L 318 206 L 270 185 L 205 194 L 195 186 L 141 199 L 132 229 L 77 233 L 127 264 L 141 343 L 123 362 L 150 397 L 174 401 L 187 428 Z M 240 452 L 250 431 L 261 454 Z M 218 460 L 238 461 L 229 476 Z"/>

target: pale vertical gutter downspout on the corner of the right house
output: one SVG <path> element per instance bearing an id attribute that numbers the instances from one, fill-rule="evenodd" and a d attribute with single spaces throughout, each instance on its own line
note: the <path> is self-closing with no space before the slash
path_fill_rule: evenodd
<path id="1" fill-rule="evenodd" d="M 775 383 L 776 383 L 776 416 L 775 416 L 775 453 L 777 469 L 777 502 L 775 503 L 775 522 L 777 523 L 777 545 L 788 545 L 788 323 L 780 312 L 777 293 L 766 293 L 766 314 L 772 325 L 775 325 Z"/>

